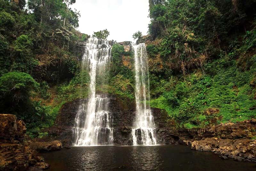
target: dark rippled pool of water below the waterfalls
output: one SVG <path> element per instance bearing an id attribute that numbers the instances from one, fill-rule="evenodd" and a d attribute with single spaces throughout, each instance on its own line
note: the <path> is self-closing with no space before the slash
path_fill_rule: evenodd
<path id="1" fill-rule="evenodd" d="M 51 165 L 51 171 L 256 170 L 256 163 L 221 160 L 214 153 L 181 145 L 72 147 L 40 155 Z"/>

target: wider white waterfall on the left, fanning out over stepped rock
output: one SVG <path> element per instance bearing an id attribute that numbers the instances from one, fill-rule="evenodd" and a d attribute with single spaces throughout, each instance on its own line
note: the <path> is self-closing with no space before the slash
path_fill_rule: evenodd
<path id="1" fill-rule="evenodd" d="M 113 144 L 113 116 L 108 111 L 110 99 L 96 95 L 96 76 L 104 80 L 111 60 L 111 46 L 108 41 L 89 38 L 86 42 L 82 69 L 90 75 L 89 99 L 79 106 L 72 129 L 75 146 L 97 146 Z"/>

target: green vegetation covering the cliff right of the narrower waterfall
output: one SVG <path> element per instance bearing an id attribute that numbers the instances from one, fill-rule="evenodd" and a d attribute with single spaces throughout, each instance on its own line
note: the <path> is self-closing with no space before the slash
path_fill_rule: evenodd
<path id="1" fill-rule="evenodd" d="M 256 117 L 256 2 L 149 3 L 151 106 L 186 128 Z"/>

